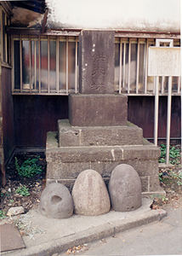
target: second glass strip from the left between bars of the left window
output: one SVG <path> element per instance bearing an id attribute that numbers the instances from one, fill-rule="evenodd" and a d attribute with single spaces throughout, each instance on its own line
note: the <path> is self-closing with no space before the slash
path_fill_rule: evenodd
<path id="1" fill-rule="evenodd" d="M 22 82 L 23 89 L 30 89 L 29 41 L 22 41 Z"/>

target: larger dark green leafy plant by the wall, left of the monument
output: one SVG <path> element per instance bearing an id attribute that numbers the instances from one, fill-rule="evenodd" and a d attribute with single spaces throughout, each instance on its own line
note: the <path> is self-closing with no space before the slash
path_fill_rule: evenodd
<path id="1" fill-rule="evenodd" d="M 33 159 L 28 159 L 23 162 L 21 166 L 19 166 L 18 160 L 15 157 L 14 165 L 16 171 L 22 177 L 34 177 L 36 174 L 43 172 L 42 166 L 37 166 L 37 161 L 40 156 L 37 156 Z"/>

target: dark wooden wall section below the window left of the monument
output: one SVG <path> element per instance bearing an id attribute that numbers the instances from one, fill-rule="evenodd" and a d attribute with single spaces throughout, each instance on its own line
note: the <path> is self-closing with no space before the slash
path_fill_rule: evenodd
<path id="1" fill-rule="evenodd" d="M 14 96 L 16 147 L 45 147 L 48 131 L 68 118 L 68 96 Z"/>

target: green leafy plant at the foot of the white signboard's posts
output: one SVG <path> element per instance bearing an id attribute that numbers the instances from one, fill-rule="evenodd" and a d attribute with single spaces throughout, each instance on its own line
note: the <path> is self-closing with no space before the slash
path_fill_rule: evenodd
<path id="1" fill-rule="evenodd" d="M 165 158 L 166 158 L 166 145 L 161 144 L 161 156 L 159 158 L 159 163 L 165 163 Z M 172 165 L 178 164 L 179 160 L 178 157 L 180 157 L 180 150 L 175 148 L 175 147 L 170 147 L 169 148 L 169 158 L 171 160 L 169 160 L 169 162 Z"/>

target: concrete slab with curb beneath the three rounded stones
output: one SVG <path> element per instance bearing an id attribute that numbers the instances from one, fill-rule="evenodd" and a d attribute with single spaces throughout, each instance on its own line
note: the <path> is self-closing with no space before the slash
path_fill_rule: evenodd
<path id="1" fill-rule="evenodd" d="M 46 218 L 38 210 L 31 210 L 16 219 L 22 227 L 21 234 L 29 235 L 23 236 L 26 249 L 2 253 L 2 255 L 50 256 L 54 253 L 64 253 L 70 247 L 90 241 L 100 241 L 105 237 L 117 236 L 119 232 L 125 230 L 137 227 L 141 230 L 143 229 L 140 228 L 141 225 L 159 222 L 166 216 L 166 212 L 162 209 L 151 210 L 151 202 L 151 199 L 143 199 L 142 207 L 133 212 L 110 211 L 100 216 L 73 215 L 66 219 Z M 9 219 L 9 221 L 14 222 L 14 219 Z M 114 240 L 117 241 L 116 239 Z M 88 253 L 91 253 L 91 247 Z M 109 255 L 109 253 L 106 254 Z M 93 253 L 93 255 L 98 255 L 98 253 Z"/>

